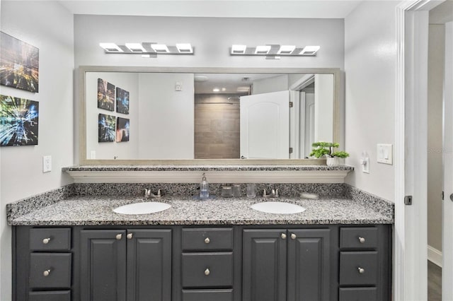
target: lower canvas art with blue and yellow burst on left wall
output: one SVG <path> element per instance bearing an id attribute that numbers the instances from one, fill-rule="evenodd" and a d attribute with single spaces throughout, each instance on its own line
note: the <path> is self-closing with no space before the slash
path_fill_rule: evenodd
<path id="1" fill-rule="evenodd" d="M 0 95 L 0 146 L 38 145 L 39 102 Z"/>

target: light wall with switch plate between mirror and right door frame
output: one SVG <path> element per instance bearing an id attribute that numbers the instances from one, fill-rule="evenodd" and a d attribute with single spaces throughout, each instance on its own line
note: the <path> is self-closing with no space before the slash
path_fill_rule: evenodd
<path id="1" fill-rule="evenodd" d="M 354 165 L 346 182 L 394 201 L 394 165 L 377 163 L 377 143 L 394 144 L 396 90 L 396 5 L 363 1 L 345 18 L 345 163 Z M 367 151 L 369 174 L 361 172 Z"/>

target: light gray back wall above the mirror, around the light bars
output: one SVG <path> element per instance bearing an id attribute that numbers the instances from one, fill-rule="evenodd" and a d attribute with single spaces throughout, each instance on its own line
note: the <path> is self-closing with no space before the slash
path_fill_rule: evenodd
<path id="1" fill-rule="evenodd" d="M 197 67 L 325 67 L 343 69 L 343 19 L 175 18 L 74 16 L 76 67 L 197 66 Z M 194 55 L 104 54 L 100 42 L 190 42 Z M 316 57 L 230 56 L 233 44 L 320 45 Z"/>

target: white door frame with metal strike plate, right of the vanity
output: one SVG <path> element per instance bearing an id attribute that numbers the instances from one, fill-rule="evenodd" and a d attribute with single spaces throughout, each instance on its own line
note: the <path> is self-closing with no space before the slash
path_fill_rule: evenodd
<path id="1" fill-rule="evenodd" d="M 442 2 L 396 6 L 394 300 L 428 300 L 428 23 Z"/>

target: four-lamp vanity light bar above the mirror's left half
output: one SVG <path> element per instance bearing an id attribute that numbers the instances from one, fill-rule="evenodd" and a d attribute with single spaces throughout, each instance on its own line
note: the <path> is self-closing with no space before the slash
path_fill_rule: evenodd
<path id="1" fill-rule="evenodd" d="M 142 57 L 157 57 L 157 54 L 193 54 L 193 47 L 190 43 L 180 43 L 176 46 L 157 44 L 151 42 L 125 43 L 99 43 L 106 54 L 142 54 Z"/>

